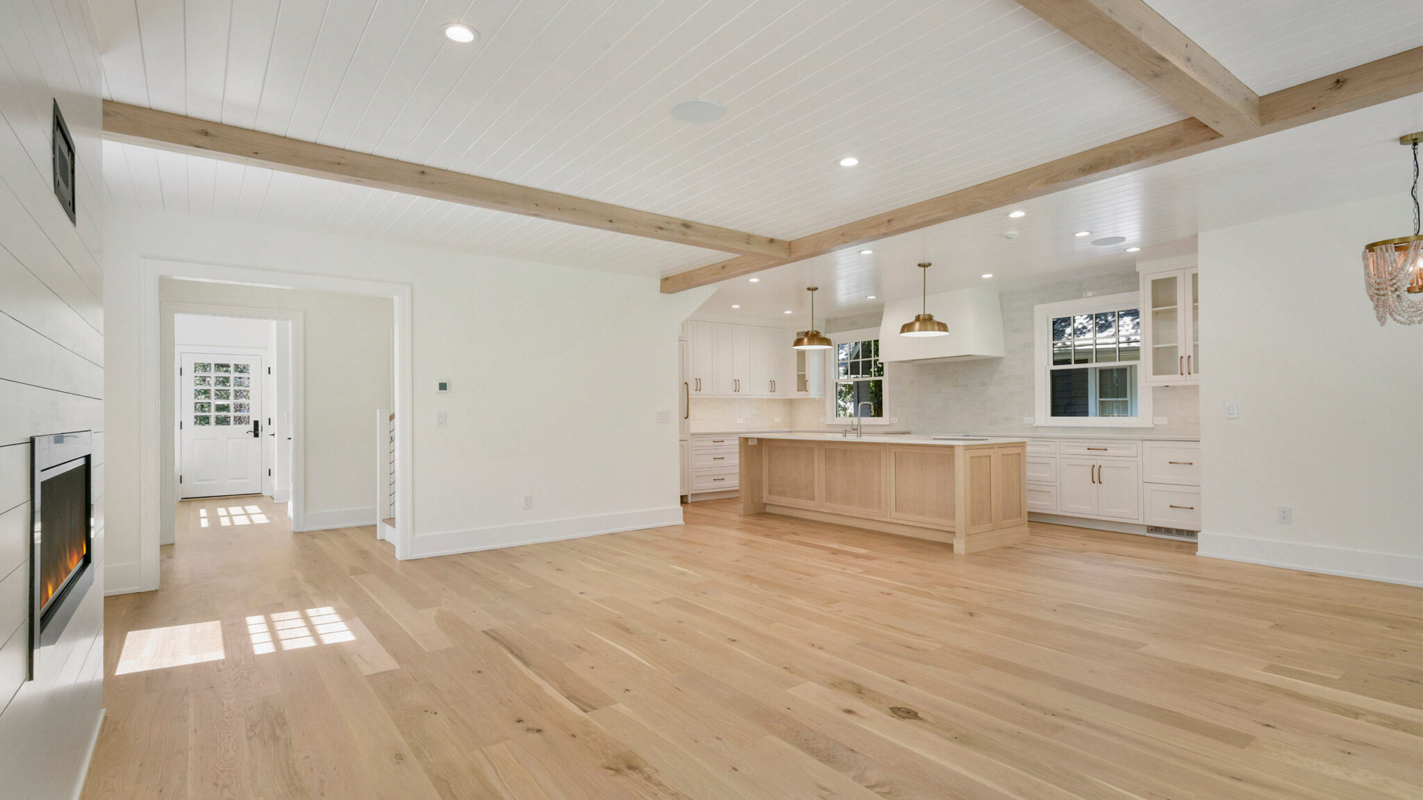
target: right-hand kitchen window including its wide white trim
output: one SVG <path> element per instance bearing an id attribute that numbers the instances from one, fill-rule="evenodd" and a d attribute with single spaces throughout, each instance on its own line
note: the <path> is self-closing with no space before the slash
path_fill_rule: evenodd
<path id="1" fill-rule="evenodd" d="M 1033 309 L 1039 426 L 1151 424 L 1136 292 Z"/>

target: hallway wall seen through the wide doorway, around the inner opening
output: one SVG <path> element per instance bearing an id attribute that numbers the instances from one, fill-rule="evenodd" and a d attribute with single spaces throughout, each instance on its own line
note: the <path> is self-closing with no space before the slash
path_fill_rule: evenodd
<path id="1" fill-rule="evenodd" d="M 302 312 L 306 374 L 297 380 L 306 410 L 305 528 L 374 525 L 376 409 L 391 407 L 394 386 L 391 300 L 206 280 L 161 280 L 159 293 L 165 303 Z M 174 322 L 176 340 L 176 317 Z"/>

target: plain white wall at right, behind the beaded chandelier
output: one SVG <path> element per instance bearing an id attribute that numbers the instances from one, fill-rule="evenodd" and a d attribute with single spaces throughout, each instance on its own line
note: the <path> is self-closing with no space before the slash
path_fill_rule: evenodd
<path id="1" fill-rule="evenodd" d="M 1379 327 L 1360 266 L 1410 211 L 1201 233 L 1201 555 L 1423 584 L 1423 327 Z"/>

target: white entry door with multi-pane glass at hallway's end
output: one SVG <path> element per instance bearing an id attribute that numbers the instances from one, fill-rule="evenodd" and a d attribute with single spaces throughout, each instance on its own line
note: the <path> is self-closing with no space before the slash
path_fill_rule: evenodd
<path id="1" fill-rule="evenodd" d="M 260 356 L 184 353 L 179 497 L 262 493 Z"/>

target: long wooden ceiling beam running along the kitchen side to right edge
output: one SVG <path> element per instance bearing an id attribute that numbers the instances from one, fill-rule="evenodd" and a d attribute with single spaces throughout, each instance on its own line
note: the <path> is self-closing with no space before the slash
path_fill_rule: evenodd
<path id="1" fill-rule="evenodd" d="M 1419 93 L 1423 93 L 1423 47 L 1266 94 L 1259 98 L 1261 124 L 1244 134 L 1221 135 L 1200 120 L 1183 120 L 956 192 L 793 239 L 791 255 L 787 259 L 743 256 L 669 275 L 662 279 L 662 290 L 663 293 L 684 292 L 834 251 L 857 248 L 877 239 L 908 233 L 929 225 L 992 211 Z"/>

